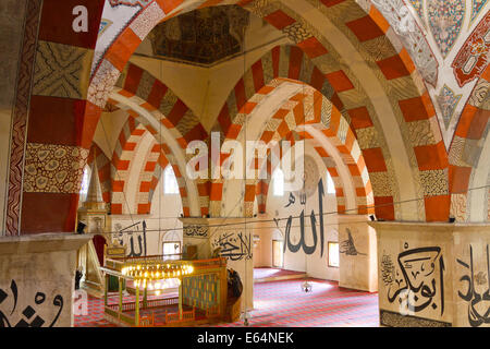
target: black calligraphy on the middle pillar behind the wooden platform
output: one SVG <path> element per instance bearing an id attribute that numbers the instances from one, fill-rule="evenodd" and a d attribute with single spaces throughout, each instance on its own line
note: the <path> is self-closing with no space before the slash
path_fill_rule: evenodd
<path id="1" fill-rule="evenodd" d="M 230 261 L 248 261 L 253 257 L 252 236 L 242 231 L 221 234 L 212 242 L 212 248 L 220 249 L 220 255 Z"/>

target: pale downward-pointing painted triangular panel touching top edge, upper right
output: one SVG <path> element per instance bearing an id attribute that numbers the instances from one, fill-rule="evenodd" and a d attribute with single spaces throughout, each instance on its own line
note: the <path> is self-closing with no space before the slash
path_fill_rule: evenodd
<path id="1" fill-rule="evenodd" d="M 464 0 L 428 0 L 429 27 L 442 57 L 446 57 L 465 20 Z"/>

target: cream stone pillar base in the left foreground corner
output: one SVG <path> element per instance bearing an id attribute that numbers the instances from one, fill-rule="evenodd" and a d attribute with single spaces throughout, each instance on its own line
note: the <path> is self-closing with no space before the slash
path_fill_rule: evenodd
<path id="1" fill-rule="evenodd" d="M 73 326 L 76 251 L 89 239 L 62 233 L 0 238 L 3 325 Z"/>

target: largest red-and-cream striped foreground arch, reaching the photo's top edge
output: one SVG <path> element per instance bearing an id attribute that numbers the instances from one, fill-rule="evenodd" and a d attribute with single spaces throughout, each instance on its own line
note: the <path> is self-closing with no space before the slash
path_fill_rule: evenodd
<path id="1" fill-rule="evenodd" d="M 377 159 L 382 154 L 390 177 L 397 183 L 403 183 L 397 185 L 399 192 L 395 192 L 393 197 L 396 201 L 414 198 L 424 201 L 422 205 L 416 202 L 404 203 L 411 209 L 396 210 L 400 213 L 397 218 L 412 215 L 414 212 L 417 217 L 409 217 L 411 219 L 446 220 L 450 202 L 448 156 L 436 113 L 427 91 L 420 84 L 420 76 L 415 71 L 409 53 L 393 35 L 383 15 L 373 5 L 367 2 L 358 4 L 354 0 L 322 2 L 318 3 L 317 8 L 311 7 L 313 11 L 306 12 L 292 9 L 291 4 L 286 7 L 279 1 L 245 0 L 236 3 L 285 33 L 302 52 L 315 61 L 318 67 L 314 72 L 315 79 L 320 84 L 324 81 L 332 82 L 331 94 L 327 97 L 339 110 L 354 115 L 352 118 L 369 120 L 369 132 L 377 133 L 371 140 L 378 139 L 381 144 L 366 155 L 373 159 L 367 161 L 367 166 L 376 164 L 375 166 L 379 167 Z M 113 85 L 132 52 L 159 22 L 182 12 L 219 4 L 221 1 L 205 1 L 186 7 L 183 2 L 179 4 L 179 10 L 170 14 L 176 3 L 170 5 L 152 2 L 131 21 L 108 48 L 94 74 L 91 85 L 99 83 Z M 309 15 L 315 12 L 314 10 L 319 11 L 324 17 L 321 23 L 316 21 L 316 25 L 330 26 L 330 31 L 318 31 L 302 14 Z M 348 45 L 335 45 L 334 41 L 339 39 Z M 311 73 L 297 64 L 301 61 L 299 56 L 296 55 L 294 58 L 296 64 L 291 65 L 290 73 L 293 75 Z M 351 62 L 351 67 L 345 67 L 343 60 L 347 65 Z M 356 60 L 362 63 L 354 64 Z M 358 80 L 356 75 L 364 77 Z M 366 79 L 367 76 L 369 79 Z M 367 81 L 373 84 L 368 86 L 369 88 L 366 88 Z M 107 88 L 102 87 L 99 91 L 91 88 L 90 92 L 89 100 L 103 106 Z M 236 96 L 241 99 L 238 104 L 247 100 L 248 92 L 243 88 L 238 92 L 240 95 Z M 383 101 L 375 98 L 377 93 L 381 93 Z M 383 117 L 383 122 L 379 116 Z M 420 130 L 425 132 L 421 133 Z M 389 142 L 385 142 L 387 137 Z M 395 154 L 390 154 L 390 147 Z M 392 156 L 396 156 L 397 160 L 393 161 Z M 407 176 L 407 169 L 412 170 L 411 176 Z M 434 183 L 442 183 L 436 192 L 430 191 Z M 393 198 L 378 196 L 376 202 L 388 207 L 387 210 L 391 207 L 387 218 L 396 218 Z"/>

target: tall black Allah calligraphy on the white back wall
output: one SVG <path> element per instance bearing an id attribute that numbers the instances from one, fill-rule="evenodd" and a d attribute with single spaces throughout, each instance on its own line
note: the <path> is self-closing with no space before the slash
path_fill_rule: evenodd
<path id="1" fill-rule="evenodd" d="M 323 256 L 323 244 L 324 244 L 324 230 L 323 230 L 323 196 L 324 196 L 324 191 L 323 191 L 323 182 L 322 180 L 320 180 L 318 182 L 318 210 L 319 214 L 315 214 L 315 210 L 311 209 L 311 213 L 309 215 L 309 219 L 311 222 L 311 236 L 313 236 L 313 244 L 308 245 L 305 241 L 305 209 L 302 210 L 301 215 L 299 215 L 299 231 L 301 231 L 301 238 L 299 241 L 297 243 L 293 243 L 291 240 L 291 227 L 293 224 L 293 219 L 297 219 L 298 217 L 293 218 L 292 215 L 290 215 L 287 217 L 286 220 L 286 226 L 285 226 L 285 241 L 286 243 L 284 243 L 284 252 L 287 250 L 290 250 L 290 252 L 292 253 L 296 253 L 298 252 L 301 249 L 303 250 L 303 252 L 305 252 L 305 254 L 314 254 L 315 251 L 317 250 L 317 244 L 318 244 L 318 231 L 317 231 L 317 216 L 319 219 L 319 233 L 320 233 L 320 255 Z M 296 197 L 294 196 L 293 193 L 290 193 L 289 196 L 289 203 L 285 207 L 289 207 L 291 205 L 294 205 L 296 202 Z M 306 205 L 306 194 L 305 193 L 301 193 L 299 194 L 299 204 L 301 205 Z M 274 219 L 275 225 L 279 228 L 279 221 L 277 219 Z"/>

